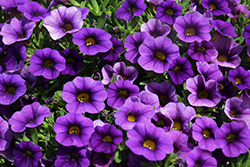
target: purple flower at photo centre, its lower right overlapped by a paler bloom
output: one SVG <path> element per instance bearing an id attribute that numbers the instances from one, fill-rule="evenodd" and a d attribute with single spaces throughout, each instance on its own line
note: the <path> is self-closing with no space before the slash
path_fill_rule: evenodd
<path id="1" fill-rule="evenodd" d="M 107 104 L 110 107 L 119 108 L 125 103 L 128 97 L 138 95 L 139 87 L 133 85 L 129 80 L 118 80 L 108 86 L 107 92 Z"/>

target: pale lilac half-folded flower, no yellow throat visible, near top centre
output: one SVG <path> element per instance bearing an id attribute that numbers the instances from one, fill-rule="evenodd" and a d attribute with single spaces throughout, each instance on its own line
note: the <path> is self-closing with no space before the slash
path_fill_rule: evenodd
<path id="1" fill-rule="evenodd" d="M 141 25 L 141 32 L 146 32 L 154 38 L 159 36 L 167 36 L 171 28 L 169 25 L 162 23 L 159 19 L 151 18 L 147 23 L 143 23 Z"/>

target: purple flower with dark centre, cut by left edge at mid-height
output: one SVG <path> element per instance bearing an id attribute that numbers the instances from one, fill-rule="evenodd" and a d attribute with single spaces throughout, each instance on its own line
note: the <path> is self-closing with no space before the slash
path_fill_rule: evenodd
<path id="1" fill-rule="evenodd" d="M 10 105 L 26 92 L 25 80 L 18 74 L 0 74 L 0 104 Z"/>

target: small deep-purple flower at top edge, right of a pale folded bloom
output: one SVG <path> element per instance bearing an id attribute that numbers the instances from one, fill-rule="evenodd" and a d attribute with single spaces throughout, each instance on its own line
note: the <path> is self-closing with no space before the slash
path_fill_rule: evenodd
<path id="1" fill-rule="evenodd" d="M 156 8 L 157 19 L 169 25 L 174 24 L 175 19 L 182 14 L 182 7 L 175 1 L 164 1 Z"/>

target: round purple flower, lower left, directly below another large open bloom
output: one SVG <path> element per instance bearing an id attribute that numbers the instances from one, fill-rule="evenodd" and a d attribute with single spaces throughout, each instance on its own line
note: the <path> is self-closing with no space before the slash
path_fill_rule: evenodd
<path id="1" fill-rule="evenodd" d="M 53 129 L 58 143 L 76 147 L 88 145 L 95 131 L 93 121 L 80 113 L 68 113 L 58 117 Z"/>

